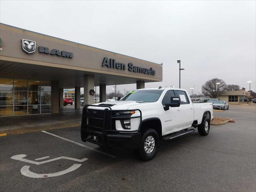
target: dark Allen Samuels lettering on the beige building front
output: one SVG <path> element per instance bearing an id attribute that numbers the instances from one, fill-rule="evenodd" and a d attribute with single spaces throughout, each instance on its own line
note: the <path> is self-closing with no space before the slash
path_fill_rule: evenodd
<path id="1" fill-rule="evenodd" d="M 101 66 L 106 66 L 109 68 L 116 68 L 119 70 L 126 70 L 126 64 L 124 63 L 119 63 L 116 62 L 115 59 L 108 59 L 106 57 L 104 57 L 102 65 Z M 153 68 L 142 68 L 142 67 L 138 67 L 138 66 L 134 66 L 134 64 L 132 63 L 128 63 L 128 70 L 132 71 L 132 72 L 136 72 L 136 73 L 143 73 L 143 74 L 148 74 L 148 75 L 155 75 L 156 74 L 156 70 L 153 70 Z"/>

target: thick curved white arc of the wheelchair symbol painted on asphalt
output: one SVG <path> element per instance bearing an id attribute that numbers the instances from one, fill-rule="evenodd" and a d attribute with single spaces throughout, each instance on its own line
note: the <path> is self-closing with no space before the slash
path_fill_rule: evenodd
<path id="1" fill-rule="evenodd" d="M 56 172 L 56 173 L 46 173 L 46 174 L 37 174 L 34 172 L 31 172 L 29 170 L 30 166 L 23 166 L 20 170 L 21 174 L 27 177 L 32 177 L 32 178 L 47 178 L 47 177 L 55 177 L 55 176 L 60 176 L 64 175 L 68 172 L 74 171 L 77 168 L 79 168 L 82 164 L 73 164 L 70 168 L 67 168 L 64 171 Z"/>

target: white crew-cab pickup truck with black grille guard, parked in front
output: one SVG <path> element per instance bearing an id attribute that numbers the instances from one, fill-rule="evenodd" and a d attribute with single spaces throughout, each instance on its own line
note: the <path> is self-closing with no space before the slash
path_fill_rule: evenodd
<path id="1" fill-rule="evenodd" d="M 118 101 L 85 105 L 81 138 L 106 148 L 130 146 L 147 161 L 156 156 L 160 140 L 194 128 L 208 135 L 212 118 L 212 103 L 192 103 L 186 90 L 138 89 Z"/>

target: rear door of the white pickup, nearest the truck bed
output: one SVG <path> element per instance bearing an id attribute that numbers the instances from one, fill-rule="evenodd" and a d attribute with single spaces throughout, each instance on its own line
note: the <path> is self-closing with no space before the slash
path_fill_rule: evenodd
<path id="1" fill-rule="evenodd" d="M 181 127 L 190 127 L 194 121 L 194 107 L 185 91 L 175 90 L 180 96 Z"/>

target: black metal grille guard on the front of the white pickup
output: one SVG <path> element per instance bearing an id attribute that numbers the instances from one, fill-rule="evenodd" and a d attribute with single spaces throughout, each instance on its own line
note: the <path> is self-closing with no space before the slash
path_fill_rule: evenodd
<path id="1" fill-rule="evenodd" d="M 100 109 L 88 109 L 88 107 L 103 107 L 104 110 Z M 117 112 L 129 112 L 129 111 L 139 111 L 140 116 L 131 117 L 128 115 L 120 115 L 120 116 L 113 116 L 113 114 L 116 114 Z M 94 115 L 95 114 L 95 115 Z M 97 115 L 96 115 L 97 114 Z M 100 114 L 100 115 L 98 115 Z M 99 116 L 101 118 L 99 118 Z M 86 142 L 88 139 L 87 130 L 93 130 L 96 131 L 98 134 L 101 135 L 102 139 L 102 146 L 107 145 L 106 141 L 106 135 L 107 132 L 111 133 L 132 133 L 134 130 L 116 130 L 115 127 L 115 121 L 116 120 L 124 120 L 124 119 L 133 119 L 133 118 L 140 118 L 140 125 L 138 129 L 140 129 L 141 122 L 142 122 L 142 113 L 139 109 L 132 109 L 132 110 L 112 110 L 110 106 L 107 105 L 85 105 L 82 112 L 82 122 L 81 122 L 81 138 L 82 141 Z M 93 122 L 98 122 L 98 126 L 90 124 L 90 120 L 92 119 Z M 113 129 L 114 128 L 114 129 Z M 93 142 L 90 140 L 90 142 Z M 101 145 L 98 142 L 94 142 L 96 144 Z"/>

